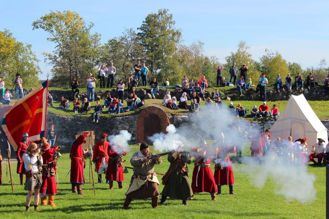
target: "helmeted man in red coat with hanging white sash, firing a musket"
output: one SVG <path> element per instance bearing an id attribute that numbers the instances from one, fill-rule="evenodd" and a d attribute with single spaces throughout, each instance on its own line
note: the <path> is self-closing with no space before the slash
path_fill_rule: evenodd
<path id="1" fill-rule="evenodd" d="M 213 201 L 216 201 L 217 187 L 215 184 L 213 172 L 210 168 L 211 159 L 202 156 L 216 155 L 216 152 L 211 148 L 205 148 L 207 147 L 207 145 L 208 144 L 203 139 L 201 139 L 199 142 L 199 147 L 191 149 L 191 152 L 200 154 L 200 156 L 194 155 L 195 163 L 191 187 L 193 193 L 209 192 L 211 194 L 211 199 Z M 191 199 L 193 199 L 193 196 L 191 197 Z"/>

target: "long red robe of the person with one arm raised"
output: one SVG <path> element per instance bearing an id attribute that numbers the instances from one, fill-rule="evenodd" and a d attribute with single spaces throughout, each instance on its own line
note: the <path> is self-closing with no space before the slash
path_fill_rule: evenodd
<path id="1" fill-rule="evenodd" d="M 83 173 L 83 149 L 82 143 L 85 141 L 88 133 L 84 133 L 80 135 L 72 144 L 71 152 L 71 175 L 70 175 L 70 182 L 71 183 L 80 183 L 85 184 L 85 176 Z"/>

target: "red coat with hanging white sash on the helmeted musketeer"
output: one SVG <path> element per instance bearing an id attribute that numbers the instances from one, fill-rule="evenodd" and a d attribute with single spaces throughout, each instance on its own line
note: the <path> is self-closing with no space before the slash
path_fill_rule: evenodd
<path id="1" fill-rule="evenodd" d="M 198 149 L 202 148 L 192 148 L 191 152 L 198 152 Z M 205 155 L 212 155 L 212 150 L 207 149 Z M 217 186 L 215 184 L 215 179 L 213 172 L 211 171 L 210 164 L 211 159 L 203 159 L 199 156 L 195 157 L 195 164 L 192 175 L 192 190 L 193 193 L 197 192 L 216 192 Z"/>

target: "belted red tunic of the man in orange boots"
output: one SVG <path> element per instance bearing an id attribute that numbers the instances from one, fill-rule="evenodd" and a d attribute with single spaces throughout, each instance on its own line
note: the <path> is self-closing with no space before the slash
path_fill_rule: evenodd
<path id="1" fill-rule="evenodd" d="M 43 165 L 42 169 L 55 169 L 55 163 L 53 162 L 53 156 L 55 151 L 57 150 L 57 147 L 52 147 L 49 149 L 46 149 L 44 153 L 42 153 L 42 160 Z M 45 165 L 46 164 L 46 165 Z M 42 176 L 42 184 L 40 188 L 40 193 L 45 195 L 55 195 L 57 194 L 57 187 L 56 187 L 56 180 L 55 176 L 46 177 Z"/>

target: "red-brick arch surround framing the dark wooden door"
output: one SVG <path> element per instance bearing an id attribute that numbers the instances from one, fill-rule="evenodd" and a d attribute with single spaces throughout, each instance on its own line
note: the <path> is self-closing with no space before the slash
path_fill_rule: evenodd
<path id="1" fill-rule="evenodd" d="M 157 105 L 148 105 L 139 113 L 137 117 L 137 142 L 139 143 L 144 142 L 144 120 L 149 114 L 156 114 L 161 118 L 162 132 L 167 134 L 165 129 L 170 124 L 167 114 Z"/>

